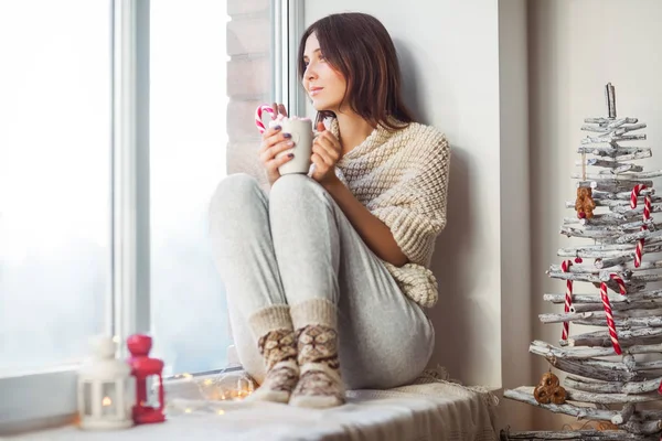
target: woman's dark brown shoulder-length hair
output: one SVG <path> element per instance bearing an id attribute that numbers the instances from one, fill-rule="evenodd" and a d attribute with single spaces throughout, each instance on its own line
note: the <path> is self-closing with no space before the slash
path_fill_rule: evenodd
<path id="1" fill-rule="evenodd" d="M 350 108 L 371 125 L 397 130 L 414 121 L 403 103 L 402 75 L 395 45 L 386 28 L 374 17 L 357 13 L 338 13 L 312 23 L 299 44 L 299 79 L 303 78 L 306 41 L 316 34 L 327 63 L 348 82 L 345 95 Z M 318 112 L 318 121 L 332 111 Z M 395 118 L 404 126 L 393 121 Z"/>

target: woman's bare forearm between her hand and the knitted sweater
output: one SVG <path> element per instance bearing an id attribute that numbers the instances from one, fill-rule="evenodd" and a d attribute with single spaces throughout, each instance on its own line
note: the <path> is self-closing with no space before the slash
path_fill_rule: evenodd
<path id="1" fill-rule="evenodd" d="M 331 194 L 359 236 L 378 258 L 396 267 L 409 261 L 397 246 L 391 229 L 359 202 L 337 176 L 331 176 L 321 185 Z"/>

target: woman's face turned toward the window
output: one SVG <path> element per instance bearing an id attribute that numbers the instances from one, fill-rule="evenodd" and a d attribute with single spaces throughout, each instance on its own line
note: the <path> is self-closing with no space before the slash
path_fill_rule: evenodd
<path id="1" fill-rule="evenodd" d="M 334 71 L 323 56 L 314 33 L 306 41 L 303 50 L 303 88 L 312 99 L 316 110 L 338 112 L 345 94 L 348 83 L 340 72 Z"/>

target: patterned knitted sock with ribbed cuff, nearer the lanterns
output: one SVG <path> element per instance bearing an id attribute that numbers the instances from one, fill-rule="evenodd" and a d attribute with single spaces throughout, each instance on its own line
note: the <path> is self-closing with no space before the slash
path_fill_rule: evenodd
<path id="1" fill-rule="evenodd" d="M 295 332 L 289 306 L 275 305 L 258 311 L 249 319 L 267 374 L 249 401 L 288 402 L 299 379 Z M 268 330 L 268 331 L 267 331 Z"/>

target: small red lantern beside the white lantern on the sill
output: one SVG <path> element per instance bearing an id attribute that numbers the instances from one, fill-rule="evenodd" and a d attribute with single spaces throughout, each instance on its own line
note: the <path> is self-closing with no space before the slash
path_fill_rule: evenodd
<path id="1" fill-rule="evenodd" d="M 149 335 L 134 334 L 127 338 L 131 356 L 128 359 L 131 375 L 136 377 L 136 405 L 132 409 L 134 421 L 137 424 L 166 421 L 163 392 L 163 362 L 149 357 L 152 338 Z M 159 381 L 159 407 L 148 406 L 147 379 L 157 376 Z"/>

